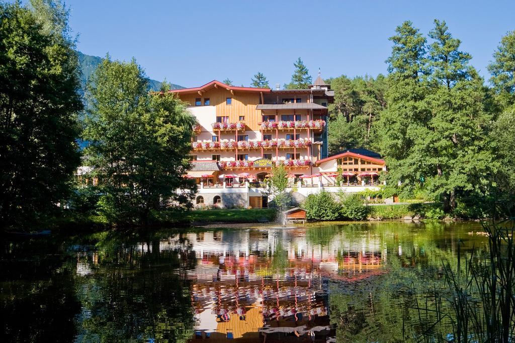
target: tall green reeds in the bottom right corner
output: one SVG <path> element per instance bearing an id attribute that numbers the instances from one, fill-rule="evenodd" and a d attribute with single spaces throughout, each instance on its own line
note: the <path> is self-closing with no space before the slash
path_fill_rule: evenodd
<path id="1" fill-rule="evenodd" d="M 444 285 L 436 286 L 421 304 L 416 296 L 424 342 L 515 341 L 515 242 L 513 222 L 483 224 L 488 251 L 461 256 L 455 270 L 442 261 Z M 465 266 L 461 265 L 461 261 Z"/>

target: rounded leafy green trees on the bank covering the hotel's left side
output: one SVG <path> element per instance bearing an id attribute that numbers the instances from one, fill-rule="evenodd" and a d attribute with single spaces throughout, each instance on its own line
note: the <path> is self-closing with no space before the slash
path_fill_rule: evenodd
<path id="1" fill-rule="evenodd" d="M 147 223 L 163 200 L 188 205 L 176 190 L 195 189 L 182 175 L 190 166 L 185 156 L 196 121 L 167 84 L 161 93 L 148 94 L 134 60 L 113 62 L 107 56 L 87 91 L 91 109 L 83 139 L 90 142 L 87 163 L 100 179 L 102 213 L 117 224 L 138 224 Z"/>

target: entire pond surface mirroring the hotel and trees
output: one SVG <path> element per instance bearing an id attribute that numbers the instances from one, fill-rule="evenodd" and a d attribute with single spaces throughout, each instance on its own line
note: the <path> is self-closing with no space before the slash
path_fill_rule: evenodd
<path id="1" fill-rule="evenodd" d="M 417 340 L 477 223 L 3 239 L 1 341 Z M 426 298 L 427 299 L 427 298 Z M 207 340 L 209 339 L 209 340 Z"/>

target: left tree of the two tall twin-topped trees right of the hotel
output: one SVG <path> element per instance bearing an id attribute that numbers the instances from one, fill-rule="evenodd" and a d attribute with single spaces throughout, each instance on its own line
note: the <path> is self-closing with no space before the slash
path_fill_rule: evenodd
<path id="1" fill-rule="evenodd" d="M 426 39 L 406 21 L 396 28 L 392 54 L 387 59 L 388 107 L 379 119 L 379 148 L 385 156 L 389 182 L 414 185 L 420 180 L 423 161 L 417 157 L 414 141 L 427 132 L 430 112 L 423 101 L 427 95 Z"/>

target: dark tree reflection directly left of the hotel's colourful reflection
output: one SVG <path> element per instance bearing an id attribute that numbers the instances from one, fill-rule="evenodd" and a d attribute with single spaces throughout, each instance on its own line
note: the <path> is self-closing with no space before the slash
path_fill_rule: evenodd
<path id="1" fill-rule="evenodd" d="M 79 334 L 101 341 L 191 338 L 190 289 L 175 271 L 195 265 L 191 245 L 184 242 L 180 249 L 160 251 L 160 235 L 138 235 L 138 245 L 116 236 L 101 238 L 97 247 L 106 249 L 99 251 L 100 267 L 77 288 L 88 313 L 81 317 Z"/>

